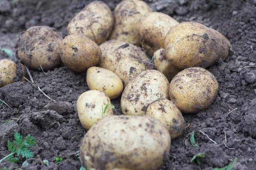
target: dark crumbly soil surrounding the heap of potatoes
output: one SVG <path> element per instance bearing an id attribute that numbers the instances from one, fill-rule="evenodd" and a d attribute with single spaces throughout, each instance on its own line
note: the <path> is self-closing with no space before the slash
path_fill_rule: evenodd
<path id="1" fill-rule="evenodd" d="M 56 28 L 67 35 L 67 24 L 91 0 L 0 0 L 0 48 L 15 51 L 17 34 L 35 25 Z M 120 0 L 105 0 L 114 9 Z M 154 11 L 179 22 L 195 21 L 220 31 L 232 44 L 225 62 L 208 68 L 218 79 L 218 96 L 205 111 L 184 114 L 187 130 L 172 141 L 169 160 L 161 170 L 197 170 L 192 156 L 204 153 L 201 169 L 224 167 L 237 158 L 234 170 L 253 170 L 256 165 L 256 0 L 146 0 Z M 0 58 L 8 57 L 0 52 Z M 14 55 L 11 57 L 16 60 Z M 18 62 L 18 61 L 16 61 Z M 76 100 L 88 90 L 85 74 L 59 67 L 44 74 L 31 70 L 35 86 L 17 82 L 0 88 L 0 158 L 9 154 L 6 144 L 18 131 L 36 138 L 35 159 L 23 164 L 27 170 L 77 170 L 79 145 L 87 132 L 81 126 Z M 121 114 L 120 98 L 112 100 L 114 114 Z M 189 137 L 195 130 L 193 147 Z M 201 130 L 209 136 L 212 142 Z M 225 142 L 226 141 L 226 142 Z M 54 158 L 64 157 L 56 164 Z M 49 166 L 41 161 L 49 160 Z M 21 167 L 3 161 L 0 167 Z"/>

